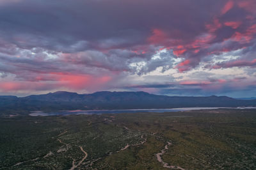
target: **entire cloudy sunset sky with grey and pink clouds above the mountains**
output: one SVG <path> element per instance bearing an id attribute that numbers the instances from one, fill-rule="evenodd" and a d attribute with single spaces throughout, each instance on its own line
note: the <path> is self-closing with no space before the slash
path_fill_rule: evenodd
<path id="1" fill-rule="evenodd" d="M 1 0 L 0 95 L 256 97 L 255 0 Z"/>

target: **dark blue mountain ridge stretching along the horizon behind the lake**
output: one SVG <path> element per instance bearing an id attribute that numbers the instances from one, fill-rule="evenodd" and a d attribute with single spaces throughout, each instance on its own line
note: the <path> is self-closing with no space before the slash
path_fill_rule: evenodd
<path id="1" fill-rule="evenodd" d="M 54 92 L 26 97 L 0 96 L 0 113 L 35 110 L 114 110 L 186 107 L 256 106 L 256 100 L 240 100 L 227 96 L 180 97 L 160 96 L 147 92 Z"/>

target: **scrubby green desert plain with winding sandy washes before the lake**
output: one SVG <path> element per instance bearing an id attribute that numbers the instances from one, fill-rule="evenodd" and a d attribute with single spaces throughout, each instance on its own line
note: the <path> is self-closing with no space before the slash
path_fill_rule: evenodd
<path id="1" fill-rule="evenodd" d="M 0 118 L 0 169 L 256 169 L 256 110 Z"/>

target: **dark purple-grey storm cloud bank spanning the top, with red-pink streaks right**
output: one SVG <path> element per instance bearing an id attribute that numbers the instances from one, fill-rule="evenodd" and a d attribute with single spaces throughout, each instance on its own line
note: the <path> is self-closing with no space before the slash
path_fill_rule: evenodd
<path id="1" fill-rule="evenodd" d="M 135 49 L 148 43 L 178 48 L 178 55 L 190 61 L 188 67 L 180 69 L 186 71 L 195 67 L 207 53 L 232 50 L 233 43 L 225 49 L 219 46 L 215 51 L 211 46 L 231 38 L 235 32 L 246 34 L 252 26 L 252 20 L 246 19 L 250 11 L 239 7 L 239 1 L 232 1 L 228 8 L 225 7 L 227 3 L 188 0 L 11 1 L 0 6 L 0 34 L 2 39 L 20 48 L 42 47 L 67 53 Z M 225 13 L 221 13 L 223 8 L 227 8 Z M 204 34 L 209 35 L 202 36 Z M 246 36 L 249 38 L 254 34 L 249 32 Z"/>

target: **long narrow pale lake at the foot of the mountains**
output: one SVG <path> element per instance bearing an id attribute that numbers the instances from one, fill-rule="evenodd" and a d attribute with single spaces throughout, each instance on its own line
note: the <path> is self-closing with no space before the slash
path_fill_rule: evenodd
<path id="1" fill-rule="evenodd" d="M 68 111 L 32 111 L 29 115 L 36 116 L 54 116 L 54 115 L 93 115 L 93 114 L 106 114 L 106 113 L 147 113 L 147 112 L 177 112 L 177 111 L 189 111 L 189 110 L 216 110 L 216 109 L 256 109 L 255 107 L 243 107 L 243 108 L 225 108 L 225 107 L 207 107 L 207 108 L 172 108 L 172 109 L 136 109 L 136 110 L 68 110 Z"/>

